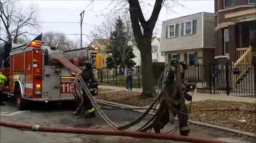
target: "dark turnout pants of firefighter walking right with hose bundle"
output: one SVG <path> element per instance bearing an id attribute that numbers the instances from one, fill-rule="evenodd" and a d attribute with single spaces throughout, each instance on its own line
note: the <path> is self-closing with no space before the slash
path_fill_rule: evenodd
<path id="1" fill-rule="evenodd" d="M 165 103 L 166 104 L 166 103 Z M 172 107 L 174 107 L 175 109 L 177 109 L 178 111 L 181 111 L 182 105 L 181 104 L 172 104 Z M 158 119 L 158 121 L 156 122 L 156 124 L 154 125 L 154 130 L 160 130 L 163 129 L 165 127 L 166 124 L 169 123 L 170 121 L 170 116 L 169 116 L 169 112 L 167 107 L 164 107 L 165 111 L 164 114 Z M 186 104 L 183 104 L 183 110 L 182 113 L 187 114 L 188 113 L 188 109 L 186 107 Z M 176 116 L 176 114 L 174 113 L 174 116 Z M 187 115 L 178 115 L 178 121 L 179 121 L 179 129 L 180 129 L 180 135 L 186 136 L 188 135 L 188 133 L 190 133 L 189 127 L 188 127 L 188 116 Z M 155 132 L 157 132 L 155 130 Z"/>

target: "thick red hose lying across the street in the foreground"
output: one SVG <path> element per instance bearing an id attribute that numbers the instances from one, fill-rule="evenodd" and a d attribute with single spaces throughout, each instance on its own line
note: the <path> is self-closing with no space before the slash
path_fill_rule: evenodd
<path id="1" fill-rule="evenodd" d="M 177 135 L 171 135 L 171 134 L 84 129 L 84 128 L 73 128 L 73 127 L 47 127 L 47 126 L 36 126 L 36 125 L 32 126 L 28 124 L 18 124 L 15 122 L 6 122 L 6 121 L 0 121 L 0 126 L 23 128 L 23 129 L 29 129 L 29 130 L 41 131 L 41 132 L 79 133 L 79 134 L 94 134 L 94 135 L 127 136 L 127 137 L 138 137 L 138 138 L 169 139 L 173 141 L 193 142 L 193 143 L 228 143 L 228 142 L 220 141 L 217 139 L 177 136 Z"/>

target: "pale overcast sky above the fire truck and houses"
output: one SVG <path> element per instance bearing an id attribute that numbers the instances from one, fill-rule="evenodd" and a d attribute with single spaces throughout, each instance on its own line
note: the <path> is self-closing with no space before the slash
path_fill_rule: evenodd
<path id="1" fill-rule="evenodd" d="M 148 0 L 147 2 L 154 3 L 155 0 Z M 65 34 L 79 34 L 79 23 L 43 23 L 43 22 L 80 22 L 80 12 L 85 10 L 84 22 L 82 32 L 89 34 L 94 28 L 95 24 L 100 25 L 104 17 L 98 17 L 102 10 L 109 12 L 111 5 L 109 0 L 96 0 L 93 5 L 90 5 L 89 0 L 23 0 L 23 5 L 34 4 L 37 6 L 38 21 L 40 28 L 38 32 L 61 32 Z M 176 7 L 175 13 L 162 9 L 158 18 L 157 26 L 155 27 L 158 36 L 161 34 L 162 21 L 176 18 L 180 16 L 190 15 L 198 12 L 214 12 L 214 0 L 183 0 L 181 4 L 186 8 Z M 144 8 L 145 18 L 149 18 L 152 8 Z M 79 40 L 79 35 L 68 35 L 70 39 Z M 83 41 L 90 42 L 86 36 L 83 36 Z"/>

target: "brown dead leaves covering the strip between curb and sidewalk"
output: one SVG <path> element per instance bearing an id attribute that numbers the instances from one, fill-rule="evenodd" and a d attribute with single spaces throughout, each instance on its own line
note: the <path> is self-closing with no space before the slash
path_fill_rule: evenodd
<path id="1" fill-rule="evenodd" d="M 154 100 L 154 98 L 139 100 L 139 95 L 139 92 L 133 91 L 113 91 L 99 93 L 98 97 L 105 101 L 138 107 L 145 107 Z M 192 102 L 190 119 L 256 133 L 256 104 L 217 100 Z"/>

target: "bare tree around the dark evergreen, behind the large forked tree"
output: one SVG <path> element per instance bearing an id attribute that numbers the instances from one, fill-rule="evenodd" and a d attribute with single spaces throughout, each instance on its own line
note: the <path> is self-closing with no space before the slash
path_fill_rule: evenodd
<path id="1" fill-rule="evenodd" d="M 125 61 L 129 55 L 129 52 L 132 50 L 131 47 L 136 46 L 136 42 L 134 40 L 132 25 L 130 23 L 129 17 L 123 16 L 123 28 L 116 29 L 115 24 L 117 19 L 121 17 L 112 17 L 107 16 L 106 19 L 102 22 L 101 25 L 95 26 L 95 29 L 91 31 L 88 37 L 91 40 L 100 39 L 101 46 L 104 46 L 104 53 L 108 55 L 108 57 L 112 58 L 114 63 L 113 67 L 120 66 L 121 68 L 125 67 Z M 113 39 L 111 34 L 113 32 L 120 33 L 120 35 L 124 35 L 125 39 Z M 114 45 L 118 45 L 120 47 L 115 47 Z M 118 52 L 119 57 L 115 57 L 114 52 Z M 116 59 L 119 58 L 120 63 L 116 63 Z"/>

